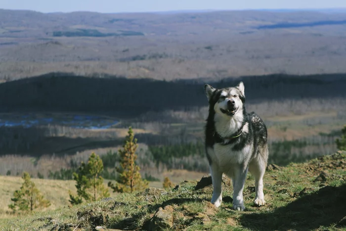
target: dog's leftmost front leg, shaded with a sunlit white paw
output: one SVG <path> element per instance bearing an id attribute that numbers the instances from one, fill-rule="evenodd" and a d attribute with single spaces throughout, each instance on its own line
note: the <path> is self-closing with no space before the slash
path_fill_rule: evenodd
<path id="1" fill-rule="evenodd" d="M 219 171 L 218 166 L 212 164 L 210 166 L 210 173 L 212 175 L 214 187 L 212 204 L 217 208 L 222 202 L 222 172 Z"/>

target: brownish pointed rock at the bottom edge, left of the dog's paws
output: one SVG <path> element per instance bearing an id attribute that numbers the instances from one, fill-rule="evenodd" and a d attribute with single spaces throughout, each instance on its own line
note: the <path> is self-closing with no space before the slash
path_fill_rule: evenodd
<path id="1" fill-rule="evenodd" d="M 161 231 L 171 229 L 173 226 L 173 212 L 159 208 L 159 210 L 152 217 L 149 230 Z"/>

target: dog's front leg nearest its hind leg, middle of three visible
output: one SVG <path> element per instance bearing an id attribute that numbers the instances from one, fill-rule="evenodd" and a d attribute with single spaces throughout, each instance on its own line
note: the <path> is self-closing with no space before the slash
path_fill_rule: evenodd
<path id="1" fill-rule="evenodd" d="M 246 180 L 247 168 L 235 169 L 233 182 L 233 209 L 244 211 L 243 189 Z"/>

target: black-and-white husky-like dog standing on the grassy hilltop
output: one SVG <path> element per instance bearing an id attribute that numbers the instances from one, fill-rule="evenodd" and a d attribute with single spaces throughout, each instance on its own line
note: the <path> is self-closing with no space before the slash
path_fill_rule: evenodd
<path id="1" fill-rule="evenodd" d="M 233 183 L 233 209 L 245 210 L 243 188 L 248 171 L 255 178 L 255 205 L 265 204 L 263 176 L 268 160 L 267 129 L 255 112 L 245 110 L 245 87 L 215 89 L 204 86 L 209 115 L 205 147 L 213 181 L 212 203 L 222 202 L 222 174 Z"/>

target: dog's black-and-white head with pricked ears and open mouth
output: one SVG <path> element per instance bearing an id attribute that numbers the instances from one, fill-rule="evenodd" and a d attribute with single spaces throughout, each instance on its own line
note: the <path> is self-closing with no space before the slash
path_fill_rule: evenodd
<path id="1" fill-rule="evenodd" d="M 206 84 L 204 90 L 207 94 L 210 109 L 214 108 L 216 114 L 232 117 L 243 113 L 245 103 L 244 84 L 240 82 L 236 87 L 215 89 Z"/>

